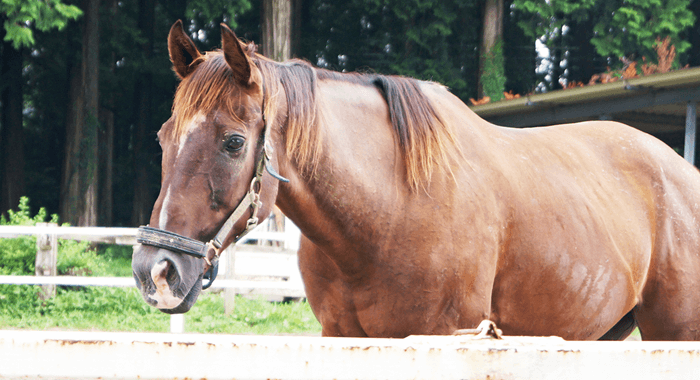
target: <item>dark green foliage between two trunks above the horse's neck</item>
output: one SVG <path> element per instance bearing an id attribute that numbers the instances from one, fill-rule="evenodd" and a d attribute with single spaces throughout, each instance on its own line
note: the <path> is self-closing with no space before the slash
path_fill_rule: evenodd
<path id="1" fill-rule="evenodd" d="M 477 1 L 316 0 L 310 55 L 335 70 L 436 81 L 467 99 L 478 69 L 478 9 Z"/>

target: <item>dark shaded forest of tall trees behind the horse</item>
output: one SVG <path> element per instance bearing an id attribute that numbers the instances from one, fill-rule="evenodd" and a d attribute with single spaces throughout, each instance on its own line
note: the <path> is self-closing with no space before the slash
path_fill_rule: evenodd
<path id="1" fill-rule="evenodd" d="M 667 37 L 675 68 L 698 66 L 698 16 L 693 0 L 3 1 L 0 212 L 26 195 L 73 225 L 148 222 L 178 19 L 202 51 L 225 22 L 277 60 L 433 80 L 468 102 L 655 62 Z"/>

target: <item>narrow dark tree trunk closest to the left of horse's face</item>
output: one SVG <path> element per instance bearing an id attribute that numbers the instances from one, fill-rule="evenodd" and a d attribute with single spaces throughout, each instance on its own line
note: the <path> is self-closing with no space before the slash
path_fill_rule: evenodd
<path id="1" fill-rule="evenodd" d="M 153 35 L 155 24 L 155 1 L 139 1 L 138 27 L 145 42 L 141 46 L 143 58 L 146 62 L 153 56 Z M 150 71 L 138 74 L 136 88 L 134 88 L 134 109 L 136 120 L 134 121 L 134 201 L 131 212 L 131 224 L 140 226 L 148 224 L 153 200 L 148 186 L 148 169 L 150 159 L 146 152 L 144 139 L 152 126 L 152 99 L 153 99 L 153 75 Z"/>

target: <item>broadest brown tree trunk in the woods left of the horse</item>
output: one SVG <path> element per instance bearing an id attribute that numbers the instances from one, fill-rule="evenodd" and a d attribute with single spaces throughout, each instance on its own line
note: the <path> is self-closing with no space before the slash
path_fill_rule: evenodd
<path id="1" fill-rule="evenodd" d="M 84 3 L 82 60 L 70 71 L 61 217 L 78 226 L 97 225 L 99 5 L 99 0 Z"/>

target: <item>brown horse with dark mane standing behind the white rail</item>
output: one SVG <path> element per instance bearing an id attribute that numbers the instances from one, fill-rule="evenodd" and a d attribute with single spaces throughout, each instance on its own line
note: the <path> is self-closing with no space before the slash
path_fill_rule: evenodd
<path id="1" fill-rule="evenodd" d="M 603 121 L 498 127 L 441 85 L 273 62 L 225 25 L 220 51 L 179 22 L 168 45 L 182 81 L 150 225 L 202 245 L 231 228 L 206 260 L 135 248 L 163 311 L 187 311 L 221 247 L 277 204 L 326 336 L 491 319 L 507 335 L 700 338 L 700 174 L 659 140 Z M 231 220 L 248 197 L 262 205 Z"/>

